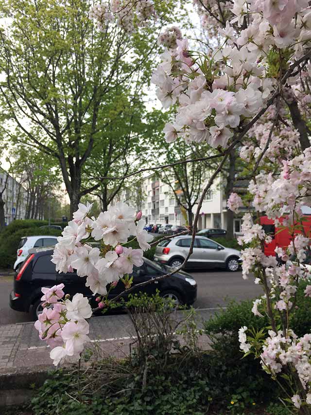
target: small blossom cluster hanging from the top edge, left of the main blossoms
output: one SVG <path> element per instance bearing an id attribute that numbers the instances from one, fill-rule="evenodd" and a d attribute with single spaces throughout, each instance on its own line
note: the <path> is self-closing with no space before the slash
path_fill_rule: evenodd
<path id="1" fill-rule="evenodd" d="M 131 33 L 136 27 L 146 26 L 156 18 L 154 2 L 151 0 L 112 0 L 91 7 L 89 18 L 97 21 L 97 27 L 104 32 L 106 23 L 115 21 L 117 26 Z"/>

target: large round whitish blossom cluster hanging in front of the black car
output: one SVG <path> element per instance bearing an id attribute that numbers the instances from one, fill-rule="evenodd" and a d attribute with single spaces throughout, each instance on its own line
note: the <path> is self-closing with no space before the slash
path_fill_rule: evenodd
<path id="1" fill-rule="evenodd" d="M 126 203 L 116 203 L 97 218 L 90 217 L 91 208 L 91 204 L 79 204 L 73 220 L 57 239 L 52 262 L 59 272 L 75 269 L 79 276 L 86 276 L 86 286 L 94 294 L 105 295 L 108 284 L 132 273 L 134 265 L 143 264 L 143 251 L 150 248 L 148 242 L 153 237 L 143 229 L 141 212 L 136 215 Z M 121 245 L 130 235 L 137 239 L 140 249 Z M 85 240 L 89 236 L 100 241 L 101 248 L 87 243 Z"/>

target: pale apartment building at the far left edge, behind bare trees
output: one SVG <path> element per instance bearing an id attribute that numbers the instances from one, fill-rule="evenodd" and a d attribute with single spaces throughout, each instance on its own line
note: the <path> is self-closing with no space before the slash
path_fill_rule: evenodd
<path id="1" fill-rule="evenodd" d="M 5 202 L 5 224 L 8 225 L 14 219 L 25 219 L 28 193 L 27 190 L 12 176 L 9 175 L 7 179 L 7 172 L 0 167 L 0 191 L 2 191 L 5 186 L 5 182 L 6 187 L 2 194 L 2 199 Z"/>

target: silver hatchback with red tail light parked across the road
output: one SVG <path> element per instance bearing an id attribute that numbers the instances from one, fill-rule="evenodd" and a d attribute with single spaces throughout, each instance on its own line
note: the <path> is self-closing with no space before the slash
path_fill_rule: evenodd
<path id="1" fill-rule="evenodd" d="M 160 242 L 155 249 L 154 260 L 171 267 L 179 267 L 189 253 L 191 236 L 176 236 Z M 225 268 L 238 271 L 242 260 L 240 251 L 225 248 L 205 236 L 195 236 L 193 253 L 185 268 Z"/>

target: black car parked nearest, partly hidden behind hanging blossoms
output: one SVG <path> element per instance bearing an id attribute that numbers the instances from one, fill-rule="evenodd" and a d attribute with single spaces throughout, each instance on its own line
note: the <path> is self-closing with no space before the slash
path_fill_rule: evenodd
<path id="1" fill-rule="evenodd" d="M 73 296 L 77 292 L 89 298 L 91 307 L 97 307 L 95 296 L 86 287 L 86 278 L 79 277 L 75 272 L 58 273 L 55 264 L 51 262 L 52 250 L 33 250 L 22 267 L 16 272 L 14 278 L 14 289 L 10 294 L 10 307 L 17 311 L 31 311 L 34 319 L 42 311 L 42 287 L 52 287 L 56 284 L 65 284 L 65 294 Z M 147 281 L 172 271 L 171 267 L 156 264 L 144 258 L 144 265 L 134 267 L 134 284 Z M 131 293 L 144 292 L 153 295 L 159 290 L 162 297 L 172 298 L 176 304 L 191 305 L 196 300 L 197 284 L 190 274 L 179 271 L 170 277 L 153 284 L 147 284 L 141 289 L 133 290 Z M 113 298 L 124 291 L 124 285 L 120 281 L 118 285 L 110 290 L 108 298 Z M 126 300 L 126 296 L 124 296 Z"/>

